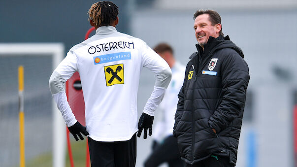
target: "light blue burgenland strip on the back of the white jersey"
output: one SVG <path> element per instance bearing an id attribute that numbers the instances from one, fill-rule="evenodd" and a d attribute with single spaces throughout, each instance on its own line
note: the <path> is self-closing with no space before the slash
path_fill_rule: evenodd
<path id="1" fill-rule="evenodd" d="M 119 60 L 130 60 L 131 52 L 112 53 L 107 55 L 95 56 L 93 58 L 94 58 L 95 65 L 98 65 L 101 63 L 115 62 Z"/>

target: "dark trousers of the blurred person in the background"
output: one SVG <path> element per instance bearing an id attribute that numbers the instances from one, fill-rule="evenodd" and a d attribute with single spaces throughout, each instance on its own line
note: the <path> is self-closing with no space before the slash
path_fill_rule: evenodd
<path id="1" fill-rule="evenodd" d="M 184 165 L 180 159 L 177 138 L 173 136 L 165 138 L 164 143 L 156 146 L 153 153 L 145 161 L 144 167 L 158 167 L 164 162 L 167 162 L 169 167 L 183 167 Z"/>

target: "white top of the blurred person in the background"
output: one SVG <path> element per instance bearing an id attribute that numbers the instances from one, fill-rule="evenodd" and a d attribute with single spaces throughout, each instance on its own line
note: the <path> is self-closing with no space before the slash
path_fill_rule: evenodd
<path id="1" fill-rule="evenodd" d="M 163 101 L 159 108 L 162 111 L 162 119 L 154 126 L 153 138 L 162 142 L 165 137 L 172 135 L 174 126 L 174 116 L 176 112 L 178 93 L 183 86 L 186 67 L 175 62 L 171 68 L 172 78 L 166 90 Z M 159 112 L 158 112 L 159 114 Z"/>

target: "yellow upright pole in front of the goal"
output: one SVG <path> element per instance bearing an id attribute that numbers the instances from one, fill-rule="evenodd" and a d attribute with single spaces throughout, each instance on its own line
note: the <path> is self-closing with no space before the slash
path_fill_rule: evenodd
<path id="1" fill-rule="evenodd" d="M 25 167 L 24 135 L 24 67 L 19 66 L 19 128 L 20 128 L 20 167 Z"/>

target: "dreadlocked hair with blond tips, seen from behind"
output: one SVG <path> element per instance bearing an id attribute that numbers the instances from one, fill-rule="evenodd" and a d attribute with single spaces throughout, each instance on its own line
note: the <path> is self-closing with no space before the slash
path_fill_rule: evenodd
<path id="1" fill-rule="evenodd" d="M 94 3 L 88 11 L 89 19 L 96 26 L 108 26 L 117 19 L 119 7 L 111 1 L 99 1 Z"/>

